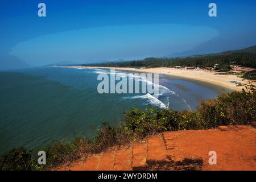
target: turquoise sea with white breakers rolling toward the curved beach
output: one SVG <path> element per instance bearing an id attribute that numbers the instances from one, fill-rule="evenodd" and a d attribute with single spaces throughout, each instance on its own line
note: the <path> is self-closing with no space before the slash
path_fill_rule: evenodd
<path id="1" fill-rule="evenodd" d="M 159 76 L 158 98 L 150 94 L 99 94 L 104 69 L 33 68 L 0 72 L 0 153 L 14 147 L 42 149 L 52 139 L 91 135 L 91 126 L 118 122 L 132 107 L 196 110 L 202 100 L 230 92 L 219 86 Z M 127 76 L 127 72 L 116 71 Z"/>

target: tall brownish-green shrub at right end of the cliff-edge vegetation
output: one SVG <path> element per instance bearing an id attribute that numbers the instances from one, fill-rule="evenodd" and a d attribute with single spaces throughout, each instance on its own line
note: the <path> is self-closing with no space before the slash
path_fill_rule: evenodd
<path id="1" fill-rule="evenodd" d="M 256 92 L 232 92 L 218 96 L 216 100 L 202 102 L 197 111 L 207 127 L 220 125 L 249 125 L 256 119 Z"/>

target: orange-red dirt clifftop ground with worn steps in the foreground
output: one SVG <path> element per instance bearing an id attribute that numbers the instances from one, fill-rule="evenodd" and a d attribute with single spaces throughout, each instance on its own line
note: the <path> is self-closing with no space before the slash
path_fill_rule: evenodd
<path id="1" fill-rule="evenodd" d="M 209 151 L 217 164 L 210 165 Z M 256 170 L 256 129 L 220 126 L 164 132 L 130 146 L 113 147 L 54 170 Z"/>

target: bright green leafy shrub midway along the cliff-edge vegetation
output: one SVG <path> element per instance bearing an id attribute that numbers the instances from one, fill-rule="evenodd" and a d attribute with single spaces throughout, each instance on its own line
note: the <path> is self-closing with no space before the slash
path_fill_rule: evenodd
<path id="1" fill-rule="evenodd" d="M 124 121 L 130 130 L 143 137 L 163 131 L 205 128 L 201 115 L 195 111 L 158 110 L 155 107 L 145 111 L 131 109 L 125 113 Z"/>

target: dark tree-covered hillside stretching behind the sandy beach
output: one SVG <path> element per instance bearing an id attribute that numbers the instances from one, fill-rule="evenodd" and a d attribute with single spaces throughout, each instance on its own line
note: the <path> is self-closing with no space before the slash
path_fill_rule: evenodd
<path id="1" fill-rule="evenodd" d="M 245 67 L 256 68 L 256 46 L 235 51 L 210 53 L 186 57 L 148 57 L 144 60 L 84 64 L 92 67 L 214 67 L 219 64 L 221 70 L 228 71 L 229 65 L 236 63 Z"/>

